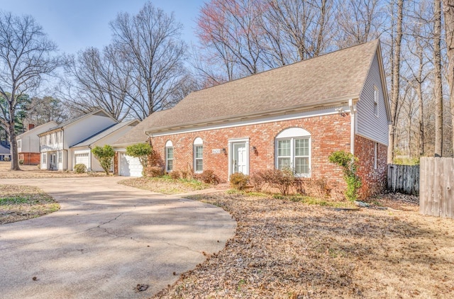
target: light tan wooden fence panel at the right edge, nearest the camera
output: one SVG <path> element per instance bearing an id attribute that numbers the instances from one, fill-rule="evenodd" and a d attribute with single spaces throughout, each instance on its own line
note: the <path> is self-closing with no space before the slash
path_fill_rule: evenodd
<path id="1" fill-rule="evenodd" d="M 421 157 L 419 212 L 454 218 L 453 158 Z"/>

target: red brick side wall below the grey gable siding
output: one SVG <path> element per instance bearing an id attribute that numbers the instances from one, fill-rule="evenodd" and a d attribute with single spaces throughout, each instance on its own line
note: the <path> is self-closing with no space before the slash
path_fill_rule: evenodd
<path id="1" fill-rule="evenodd" d="M 358 175 L 362 179 L 360 198 L 384 191 L 387 176 L 387 147 L 377 145 L 377 169 L 374 169 L 375 142 L 355 135 L 355 156 L 359 159 Z"/>

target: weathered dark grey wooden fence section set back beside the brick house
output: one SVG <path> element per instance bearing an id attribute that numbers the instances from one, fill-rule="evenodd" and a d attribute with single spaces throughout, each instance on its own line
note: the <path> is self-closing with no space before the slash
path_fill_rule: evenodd
<path id="1" fill-rule="evenodd" d="M 392 193 L 418 195 L 419 165 L 388 164 L 387 188 Z"/>

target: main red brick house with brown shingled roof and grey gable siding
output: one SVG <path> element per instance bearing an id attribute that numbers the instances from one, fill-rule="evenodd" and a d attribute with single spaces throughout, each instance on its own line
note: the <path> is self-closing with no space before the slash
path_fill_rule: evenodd
<path id="1" fill-rule="evenodd" d="M 375 40 L 189 94 L 151 115 L 145 133 L 166 171 L 213 170 L 227 181 L 292 167 L 297 176 L 343 184 L 328 161 L 359 158 L 362 197 L 382 191 L 389 103 Z"/>

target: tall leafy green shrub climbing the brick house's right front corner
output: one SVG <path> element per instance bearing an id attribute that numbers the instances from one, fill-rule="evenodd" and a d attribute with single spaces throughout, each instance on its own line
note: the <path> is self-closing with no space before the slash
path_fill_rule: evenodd
<path id="1" fill-rule="evenodd" d="M 358 191 L 362 186 L 361 178 L 356 174 L 358 169 L 358 158 L 353 156 L 350 152 L 341 150 L 332 152 L 328 159 L 329 162 L 338 164 L 343 169 L 343 177 L 347 184 L 345 198 L 349 201 L 356 201 L 358 199 Z"/>

